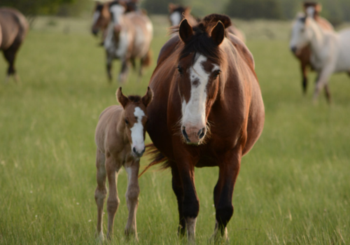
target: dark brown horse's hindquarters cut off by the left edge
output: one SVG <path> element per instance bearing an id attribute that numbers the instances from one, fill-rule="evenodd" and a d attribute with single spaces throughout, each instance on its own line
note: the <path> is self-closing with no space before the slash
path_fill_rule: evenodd
<path id="1" fill-rule="evenodd" d="M 14 8 L 0 8 L 0 50 L 8 62 L 6 82 L 11 75 L 18 80 L 15 58 L 28 29 L 29 24 L 22 13 Z"/>

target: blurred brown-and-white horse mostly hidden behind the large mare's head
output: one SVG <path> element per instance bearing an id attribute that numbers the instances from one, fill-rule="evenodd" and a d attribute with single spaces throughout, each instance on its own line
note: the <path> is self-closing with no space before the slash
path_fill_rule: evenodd
<path id="1" fill-rule="evenodd" d="M 188 23 L 190 25 L 197 25 L 197 20 L 190 14 L 191 8 L 185 7 L 181 5 L 176 5 L 173 3 L 169 3 L 169 20 L 170 25 L 176 26 L 180 25 L 181 20 L 187 19 Z M 228 32 L 231 34 L 236 35 L 241 41 L 246 41 L 246 36 L 244 35 L 243 31 L 235 27 L 231 24 L 230 27 L 228 27 Z"/>

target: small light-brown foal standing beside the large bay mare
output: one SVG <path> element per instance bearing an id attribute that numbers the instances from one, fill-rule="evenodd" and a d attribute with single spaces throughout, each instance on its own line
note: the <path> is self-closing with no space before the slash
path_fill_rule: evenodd
<path id="1" fill-rule="evenodd" d="M 99 116 L 95 142 L 97 145 L 96 167 L 97 188 L 94 198 L 97 204 L 97 235 L 104 239 L 102 215 L 109 181 L 109 198 L 107 200 L 108 233 L 113 234 L 114 216 L 119 206 L 117 193 L 117 177 L 122 166 L 127 172 L 127 209 L 129 217 L 125 227 L 125 235 L 133 234 L 137 239 L 136 213 L 139 203 L 139 165 L 145 151 L 146 108 L 151 103 L 153 92 L 149 89 L 144 97 L 125 97 L 121 88 L 117 91 L 117 99 L 122 106 L 109 106 Z"/>

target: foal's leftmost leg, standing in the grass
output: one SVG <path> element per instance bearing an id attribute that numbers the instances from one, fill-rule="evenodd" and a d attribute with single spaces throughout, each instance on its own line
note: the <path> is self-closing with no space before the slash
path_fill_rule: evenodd
<path id="1" fill-rule="evenodd" d="M 104 153 L 97 149 L 96 152 L 96 168 L 97 168 L 97 188 L 94 192 L 94 200 L 97 204 L 97 236 L 99 240 L 104 240 L 104 231 L 102 227 L 102 216 L 104 210 L 104 201 L 106 200 L 106 169 L 104 167 Z"/>

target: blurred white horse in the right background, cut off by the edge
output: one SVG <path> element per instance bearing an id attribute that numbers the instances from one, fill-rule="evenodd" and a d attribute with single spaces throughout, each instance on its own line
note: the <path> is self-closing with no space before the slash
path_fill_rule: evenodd
<path id="1" fill-rule="evenodd" d="M 350 75 L 350 28 L 339 32 L 323 30 L 313 18 L 314 8 L 307 9 L 307 15 L 299 14 L 293 24 L 290 49 L 300 50 L 310 45 L 310 62 L 318 73 L 314 101 L 325 87 L 330 103 L 328 80 L 332 73 L 347 72 Z"/>

